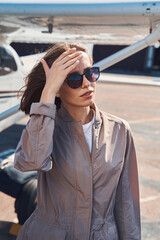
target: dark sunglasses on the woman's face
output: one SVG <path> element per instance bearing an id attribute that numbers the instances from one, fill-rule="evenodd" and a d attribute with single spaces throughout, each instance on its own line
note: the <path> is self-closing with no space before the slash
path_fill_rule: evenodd
<path id="1" fill-rule="evenodd" d="M 87 69 L 87 71 L 83 74 L 72 73 L 66 78 L 65 81 L 70 88 L 76 89 L 82 86 L 84 75 L 90 82 L 95 82 L 100 76 L 100 69 L 99 67 L 92 67 Z"/>

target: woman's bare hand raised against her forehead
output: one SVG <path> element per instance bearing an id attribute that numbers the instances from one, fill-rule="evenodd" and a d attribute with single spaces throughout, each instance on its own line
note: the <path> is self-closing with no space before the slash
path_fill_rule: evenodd
<path id="1" fill-rule="evenodd" d="M 81 57 L 81 52 L 76 51 L 76 48 L 72 48 L 63 52 L 53 62 L 51 68 L 49 68 L 46 61 L 42 59 L 41 63 L 46 75 L 45 90 L 48 89 L 52 94 L 56 95 L 69 72 L 78 65 Z"/>

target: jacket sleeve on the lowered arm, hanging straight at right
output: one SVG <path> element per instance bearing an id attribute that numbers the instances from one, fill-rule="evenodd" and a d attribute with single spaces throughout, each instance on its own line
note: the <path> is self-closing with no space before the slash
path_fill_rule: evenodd
<path id="1" fill-rule="evenodd" d="M 115 219 L 119 240 L 141 239 L 138 170 L 130 128 L 127 129 L 125 160 L 116 193 Z"/>

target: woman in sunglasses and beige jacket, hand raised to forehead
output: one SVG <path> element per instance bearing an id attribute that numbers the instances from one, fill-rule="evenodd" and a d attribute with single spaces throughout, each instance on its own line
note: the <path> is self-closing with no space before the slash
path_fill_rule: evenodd
<path id="1" fill-rule="evenodd" d="M 38 193 L 18 240 L 141 238 L 132 135 L 95 105 L 98 77 L 85 48 L 63 43 L 27 77 L 21 110 L 31 118 L 15 168 L 38 171 Z"/>

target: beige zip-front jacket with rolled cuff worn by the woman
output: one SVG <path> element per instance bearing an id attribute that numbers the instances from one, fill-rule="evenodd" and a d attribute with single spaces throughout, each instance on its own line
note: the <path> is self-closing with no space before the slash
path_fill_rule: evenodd
<path id="1" fill-rule="evenodd" d="M 138 174 L 128 124 L 95 110 L 91 156 L 82 121 L 32 103 L 15 168 L 38 170 L 37 208 L 17 240 L 140 240 Z"/>

